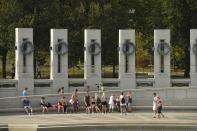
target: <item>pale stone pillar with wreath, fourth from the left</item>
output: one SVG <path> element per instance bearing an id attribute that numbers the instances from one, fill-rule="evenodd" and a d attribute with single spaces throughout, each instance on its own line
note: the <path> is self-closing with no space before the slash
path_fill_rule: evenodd
<path id="1" fill-rule="evenodd" d="M 135 30 L 119 30 L 119 87 L 136 88 Z"/>

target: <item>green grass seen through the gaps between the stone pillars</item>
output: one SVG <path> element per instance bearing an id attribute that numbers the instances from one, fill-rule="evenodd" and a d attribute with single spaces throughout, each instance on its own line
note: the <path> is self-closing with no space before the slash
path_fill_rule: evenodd
<path id="1" fill-rule="evenodd" d="M 6 68 L 6 74 L 7 79 L 11 78 L 10 75 L 10 67 L 11 64 L 7 64 Z M 102 77 L 103 78 L 113 78 L 113 68 L 112 65 L 105 65 L 102 66 Z M 115 70 L 115 78 L 118 78 L 118 66 L 116 66 Z M 154 68 L 153 67 L 147 67 L 147 68 L 137 68 L 136 70 L 136 76 L 137 77 L 148 77 L 148 73 L 153 73 Z M 176 69 L 176 71 L 171 70 L 171 77 L 172 78 L 183 78 L 183 69 Z M 68 69 L 69 78 L 83 78 L 84 77 L 84 67 L 83 65 L 70 67 Z M 45 65 L 41 67 L 41 75 L 43 79 L 49 79 L 50 78 L 50 65 Z M 0 64 L 0 79 L 2 79 L 2 65 Z"/>

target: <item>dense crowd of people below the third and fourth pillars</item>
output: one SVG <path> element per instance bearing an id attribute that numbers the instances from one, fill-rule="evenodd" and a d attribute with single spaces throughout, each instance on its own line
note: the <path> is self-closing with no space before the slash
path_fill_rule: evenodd
<path id="1" fill-rule="evenodd" d="M 86 113 L 107 113 L 114 112 L 116 109 L 118 112 L 127 113 L 131 112 L 132 97 L 131 92 L 125 96 L 123 92 L 120 95 L 111 94 L 109 99 L 107 99 L 105 93 L 103 92 L 101 96 L 95 93 L 94 96 L 90 96 L 89 92 L 86 92 L 84 97 L 84 104 Z"/>

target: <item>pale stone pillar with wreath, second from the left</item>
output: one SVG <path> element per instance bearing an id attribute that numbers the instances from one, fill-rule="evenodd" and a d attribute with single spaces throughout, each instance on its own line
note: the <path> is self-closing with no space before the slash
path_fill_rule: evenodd
<path id="1" fill-rule="evenodd" d="M 51 69 L 52 92 L 64 87 L 68 92 L 68 39 L 67 29 L 51 29 Z"/>

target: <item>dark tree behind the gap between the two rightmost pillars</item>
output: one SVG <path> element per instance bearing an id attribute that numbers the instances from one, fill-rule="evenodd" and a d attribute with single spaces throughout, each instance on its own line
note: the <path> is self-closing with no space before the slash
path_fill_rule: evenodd
<path id="1" fill-rule="evenodd" d="M 172 43 L 178 41 L 179 45 L 184 49 L 185 58 L 182 62 L 185 64 L 185 77 L 189 77 L 190 71 L 189 31 L 192 28 L 191 12 L 193 10 L 191 7 L 196 4 L 195 0 L 166 0 L 163 3 L 166 21 L 172 30 Z"/>

